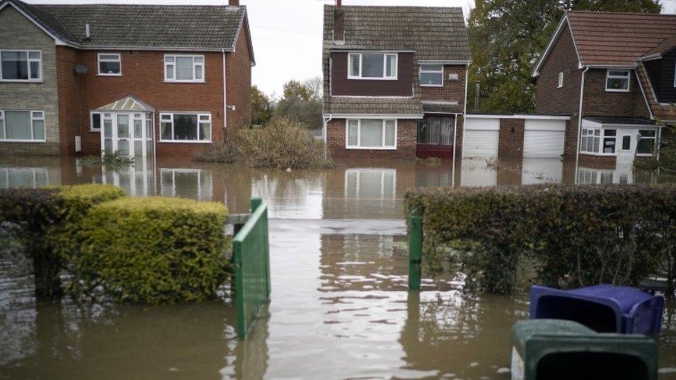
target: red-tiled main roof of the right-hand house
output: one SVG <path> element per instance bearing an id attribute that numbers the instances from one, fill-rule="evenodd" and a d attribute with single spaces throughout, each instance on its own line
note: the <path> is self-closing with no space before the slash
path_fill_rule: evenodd
<path id="1" fill-rule="evenodd" d="M 583 65 L 634 66 L 676 35 L 676 15 L 573 10 L 568 20 Z"/>

